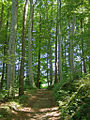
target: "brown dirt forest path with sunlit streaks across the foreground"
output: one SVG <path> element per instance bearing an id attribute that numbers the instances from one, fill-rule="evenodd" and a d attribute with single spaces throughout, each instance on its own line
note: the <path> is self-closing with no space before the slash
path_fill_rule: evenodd
<path id="1" fill-rule="evenodd" d="M 60 111 L 53 99 L 51 90 L 37 90 L 21 107 L 11 103 L 2 103 L 0 108 L 9 105 L 11 111 L 3 115 L 0 120 L 60 120 Z"/>

